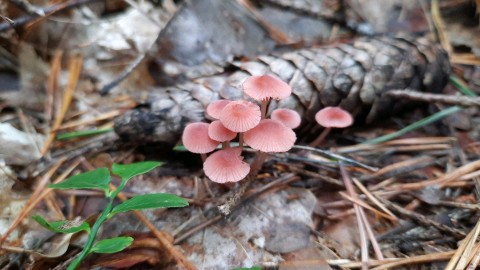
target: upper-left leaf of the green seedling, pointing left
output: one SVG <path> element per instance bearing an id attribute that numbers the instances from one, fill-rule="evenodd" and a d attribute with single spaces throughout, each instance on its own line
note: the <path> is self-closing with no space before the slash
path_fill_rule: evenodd
<path id="1" fill-rule="evenodd" d="M 111 177 L 107 168 L 99 168 L 93 171 L 74 175 L 58 184 L 50 184 L 48 187 L 56 189 L 102 189 L 108 193 L 108 184 Z"/>

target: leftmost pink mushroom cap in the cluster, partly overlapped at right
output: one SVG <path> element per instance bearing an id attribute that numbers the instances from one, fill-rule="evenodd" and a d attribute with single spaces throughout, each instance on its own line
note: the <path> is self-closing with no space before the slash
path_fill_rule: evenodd
<path id="1" fill-rule="evenodd" d="M 182 142 L 188 151 L 197 154 L 209 153 L 217 148 L 219 142 L 208 136 L 208 123 L 188 124 L 183 130 Z"/>

